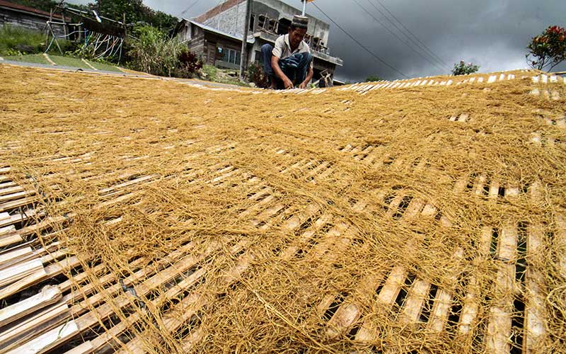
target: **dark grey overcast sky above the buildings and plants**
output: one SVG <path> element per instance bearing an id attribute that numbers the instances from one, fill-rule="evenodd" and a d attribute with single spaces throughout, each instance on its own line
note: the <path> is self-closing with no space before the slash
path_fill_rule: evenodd
<path id="1" fill-rule="evenodd" d="M 197 1 L 183 17 L 198 16 L 220 2 Z M 284 2 L 302 6 L 300 0 Z M 180 16 L 194 3 L 195 0 L 144 0 L 147 6 L 173 16 Z M 313 4 L 398 72 L 362 49 Z M 344 59 L 344 67 L 337 69 L 336 77 L 347 81 L 364 80 L 369 75 L 401 79 L 400 73 L 410 77 L 449 74 L 461 59 L 480 65 L 480 72 L 525 68 L 529 40 L 549 25 L 566 25 L 565 0 L 316 0 L 307 4 L 307 13 L 330 23 L 330 53 Z M 405 37 L 398 30 L 405 30 L 403 25 L 417 38 Z M 427 49 L 417 47 L 422 47 L 421 42 L 444 63 L 433 59 L 425 52 Z M 566 70 L 566 63 L 554 70 Z"/>

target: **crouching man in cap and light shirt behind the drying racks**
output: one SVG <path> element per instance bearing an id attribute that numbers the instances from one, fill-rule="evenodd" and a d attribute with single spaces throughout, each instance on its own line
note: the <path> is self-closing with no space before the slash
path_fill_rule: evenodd
<path id="1" fill-rule="evenodd" d="M 289 33 L 277 38 L 275 47 L 261 47 L 263 69 L 272 89 L 305 89 L 313 79 L 313 55 L 304 42 L 307 28 L 307 17 L 294 16 Z"/>

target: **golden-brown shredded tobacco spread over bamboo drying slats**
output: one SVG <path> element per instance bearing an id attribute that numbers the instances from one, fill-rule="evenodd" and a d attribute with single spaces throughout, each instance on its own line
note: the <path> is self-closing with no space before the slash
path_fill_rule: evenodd
<path id="1" fill-rule="evenodd" d="M 566 353 L 566 85 L 509 74 L 313 94 L 0 65 L 0 161 L 81 259 L 97 352 Z"/>

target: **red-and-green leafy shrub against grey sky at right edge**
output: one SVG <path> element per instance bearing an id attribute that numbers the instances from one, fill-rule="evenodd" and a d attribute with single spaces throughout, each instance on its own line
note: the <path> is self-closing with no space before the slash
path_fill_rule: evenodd
<path id="1" fill-rule="evenodd" d="M 526 62 L 533 69 L 552 70 L 566 60 L 566 30 L 558 25 L 547 28 L 529 43 Z"/>

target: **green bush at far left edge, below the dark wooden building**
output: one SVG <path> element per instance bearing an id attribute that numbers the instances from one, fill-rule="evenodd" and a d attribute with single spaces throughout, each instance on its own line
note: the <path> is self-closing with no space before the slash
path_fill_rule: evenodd
<path id="1" fill-rule="evenodd" d="M 36 54 L 45 50 L 45 35 L 33 30 L 4 24 L 0 28 L 0 54 Z"/>

